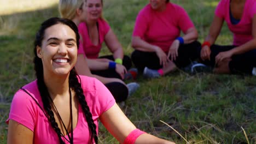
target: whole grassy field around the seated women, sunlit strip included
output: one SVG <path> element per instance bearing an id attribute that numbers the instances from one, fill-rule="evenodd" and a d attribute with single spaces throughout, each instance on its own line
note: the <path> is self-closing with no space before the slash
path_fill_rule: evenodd
<path id="1" fill-rule="evenodd" d="M 6 143 L 9 106 L 14 93 L 34 80 L 32 49 L 39 24 L 59 16 L 57 0 L 0 0 L 0 143 Z M 213 18 L 214 0 L 173 0 L 189 13 L 206 36 Z M 104 1 L 104 17 L 127 55 L 138 11 L 148 0 Z M 218 44 L 231 44 L 224 26 Z M 108 53 L 106 48 L 102 54 Z M 147 133 L 176 143 L 256 143 L 256 77 L 246 75 L 189 75 L 176 71 L 160 79 L 137 80 L 141 87 L 122 107 L 126 116 Z M 247 136 L 245 136 L 243 129 Z M 118 143 L 100 127 L 100 143 Z M 247 141 L 248 138 L 248 141 Z"/>

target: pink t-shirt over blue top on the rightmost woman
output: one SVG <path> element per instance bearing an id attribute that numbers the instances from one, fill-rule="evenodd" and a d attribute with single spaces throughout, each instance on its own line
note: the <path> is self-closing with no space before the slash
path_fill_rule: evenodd
<path id="1" fill-rule="evenodd" d="M 230 31 L 233 33 L 233 45 L 239 46 L 247 43 L 252 37 L 252 20 L 256 13 L 256 1 L 247 0 L 243 8 L 243 14 L 240 22 L 232 25 L 230 21 L 230 0 L 221 0 L 215 10 L 215 15 L 224 19 L 228 24 Z"/>

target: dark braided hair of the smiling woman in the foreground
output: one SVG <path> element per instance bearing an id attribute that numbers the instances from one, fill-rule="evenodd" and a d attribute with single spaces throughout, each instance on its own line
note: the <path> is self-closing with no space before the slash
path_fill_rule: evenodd
<path id="1" fill-rule="evenodd" d="M 39 89 L 40 96 L 43 101 L 43 106 L 45 111 L 48 114 L 48 119 L 51 123 L 51 127 L 55 130 L 57 133 L 57 136 L 60 140 L 60 143 L 64 143 L 61 138 L 61 130 L 58 127 L 58 124 L 56 123 L 56 120 L 54 118 L 53 110 L 51 110 L 51 102 L 49 100 L 50 94 L 48 92 L 48 88 L 46 87 L 44 83 L 44 75 L 43 75 L 43 63 L 42 59 L 40 59 L 37 56 L 37 46 L 42 46 L 42 41 L 44 38 L 45 29 L 49 28 L 50 26 L 56 25 L 57 23 L 62 23 L 63 25 L 69 26 L 73 31 L 75 32 L 76 38 L 77 38 L 77 47 L 79 47 L 79 34 L 78 29 L 75 24 L 68 19 L 62 19 L 59 17 L 52 17 L 46 21 L 44 21 L 37 32 L 36 40 L 34 41 L 34 70 L 36 71 L 37 76 L 37 85 Z M 88 122 L 88 128 L 90 132 L 90 141 L 93 143 L 93 139 L 95 143 L 98 143 L 98 137 L 96 133 L 96 125 L 94 124 L 94 121 L 92 119 L 92 115 L 89 109 L 88 104 L 85 101 L 85 96 L 83 89 L 81 87 L 81 84 L 78 82 L 77 73 L 75 72 L 74 68 L 71 70 L 69 74 L 69 86 L 75 91 L 75 96 L 78 97 L 79 104 L 82 105 L 82 109 L 86 118 L 86 121 Z"/>

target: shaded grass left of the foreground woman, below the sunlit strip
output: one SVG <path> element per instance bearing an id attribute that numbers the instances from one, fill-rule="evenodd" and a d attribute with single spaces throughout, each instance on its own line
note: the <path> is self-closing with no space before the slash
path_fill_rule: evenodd
<path id="1" fill-rule="evenodd" d="M 0 16 L 0 141 L 6 143 L 9 107 L 14 93 L 34 80 L 33 41 L 40 23 L 59 16 L 53 7 Z"/>

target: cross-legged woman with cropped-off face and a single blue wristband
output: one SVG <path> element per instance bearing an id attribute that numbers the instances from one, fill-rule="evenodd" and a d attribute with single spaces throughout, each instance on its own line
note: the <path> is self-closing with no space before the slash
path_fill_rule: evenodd
<path id="1" fill-rule="evenodd" d="M 162 76 L 200 57 L 196 39 L 196 28 L 182 7 L 168 0 L 150 1 L 136 18 L 132 62 L 146 77 Z"/>

